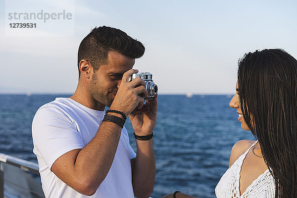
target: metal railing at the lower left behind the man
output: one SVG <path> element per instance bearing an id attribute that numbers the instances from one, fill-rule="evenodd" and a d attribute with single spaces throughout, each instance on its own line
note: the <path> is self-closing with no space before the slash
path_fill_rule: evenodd
<path id="1" fill-rule="evenodd" d="M 9 183 L 14 188 L 28 192 L 28 194 L 32 195 L 32 198 L 45 197 L 41 185 L 24 171 L 40 176 L 37 163 L 0 153 L 0 198 L 4 198 L 4 183 Z M 16 182 L 11 182 L 12 180 L 9 180 L 9 177 L 14 178 Z M 23 181 L 23 183 L 19 183 L 20 181 Z M 30 186 L 33 186 L 33 188 L 30 188 Z"/>

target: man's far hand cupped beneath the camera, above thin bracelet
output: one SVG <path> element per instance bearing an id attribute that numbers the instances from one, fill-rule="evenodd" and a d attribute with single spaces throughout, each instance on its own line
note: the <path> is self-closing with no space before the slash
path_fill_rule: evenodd
<path id="1" fill-rule="evenodd" d="M 129 119 L 136 135 L 147 136 L 152 133 L 157 121 L 157 98 L 156 95 L 153 99 L 147 100 L 145 107 L 148 111 L 134 111 L 129 114 Z"/>

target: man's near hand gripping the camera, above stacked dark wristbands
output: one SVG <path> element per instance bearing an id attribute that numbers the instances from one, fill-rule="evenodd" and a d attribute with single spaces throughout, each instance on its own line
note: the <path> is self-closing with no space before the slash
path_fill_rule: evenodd
<path id="1" fill-rule="evenodd" d="M 129 76 L 137 72 L 137 69 L 130 69 L 124 73 L 121 84 L 110 106 L 110 109 L 122 111 L 127 116 L 136 107 L 143 107 L 145 100 L 140 97 L 139 94 L 143 93 L 144 96 L 148 96 L 148 91 L 145 87 L 146 82 L 137 77 L 129 83 Z"/>

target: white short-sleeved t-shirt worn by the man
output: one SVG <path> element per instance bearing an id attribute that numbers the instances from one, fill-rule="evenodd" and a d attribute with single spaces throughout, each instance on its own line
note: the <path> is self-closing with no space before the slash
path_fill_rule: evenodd
<path id="1" fill-rule="evenodd" d="M 50 168 L 64 153 L 85 147 L 95 137 L 103 116 L 104 111 L 90 109 L 70 98 L 57 98 L 37 110 L 32 123 L 33 152 L 46 198 L 90 197 L 67 186 Z M 134 198 L 130 160 L 135 157 L 124 127 L 110 170 L 91 197 Z"/>

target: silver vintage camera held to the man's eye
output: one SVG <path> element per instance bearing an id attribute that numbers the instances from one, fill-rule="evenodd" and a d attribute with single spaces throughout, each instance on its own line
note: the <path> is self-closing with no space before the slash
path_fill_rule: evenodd
<path id="1" fill-rule="evenodd" d="M 144 99 L 152 99 L 158 93 L 158 86 L 154 84 L 152 80 L 152 74 L 149 72 L 140 72 L 132 74 L 129 77 L 129 82 L 133 81 L 135 78 L 140 77 L 146 82 L 146 88 L 148 90 L 148 98 Z"/>

